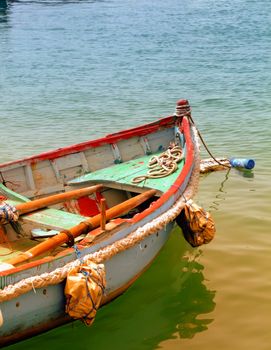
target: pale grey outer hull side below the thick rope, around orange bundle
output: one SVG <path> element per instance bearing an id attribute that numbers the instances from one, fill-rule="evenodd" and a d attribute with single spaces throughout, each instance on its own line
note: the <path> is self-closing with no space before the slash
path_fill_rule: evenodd
<path id="1" fill-rule="evenodd" d="M 106 290 L 102 304 L 122 294 L 151 265 L 166 243 L 173 223 L 105 262 Z M 32 290 L 1 304 L 0 345 L 48 331 L 72 321 L 65 314 L 65 284 Z"/>

